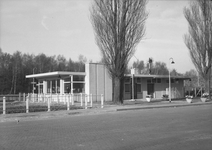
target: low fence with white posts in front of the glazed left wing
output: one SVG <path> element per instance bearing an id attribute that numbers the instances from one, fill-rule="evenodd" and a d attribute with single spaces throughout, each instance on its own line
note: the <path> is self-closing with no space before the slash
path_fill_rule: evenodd
<path id="1" fill-rule="evenodd" d="M 100 98 L 99 100 L 94 98 Z M 95 101 L 94 101 L 95 100 Z M 93 102 L 100 102 L 95 103 L 95 105 L 100 106 L 101 108 L 104 107 L 104 96 L 101 95 L 92 95 L 92 94 L 27 94 L 26 98 L 24 96 L 23 101 L 21 104 L 18 104 L 15 106 L 10 106 L 11 102 L 8 102 L 8 97 L 3 97 L 2 99 L 2 113 L 7 113 L 7 108 L 11 109 L 17 109 L 19 107 L 22 109 L 21 112 L 29 113 L 30 110 L 35 110 L 36 108 L 46 111 L 51 111 L 52 108 L 62 108 L 63 110 L 70 110 L 70 109 L 78 109 L 78 108 L 84 108 L 88 109 L 89 107 L 93 107 Z M 0 106 L 1 108 L 1 106 Z M 55 110 L 55 109 L 54 109 Z M 58 109 L 60 110 L 60 109 Z M 14 112 L 20 112 L 20 111 L 14 111 Z M 33 111 L 34 112 L 34 111 Z M 1 113 L 1 111 L 0 111 Z"/>

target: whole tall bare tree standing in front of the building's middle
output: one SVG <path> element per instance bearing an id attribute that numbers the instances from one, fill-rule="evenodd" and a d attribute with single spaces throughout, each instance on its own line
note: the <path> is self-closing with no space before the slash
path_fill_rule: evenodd
<path id="1" fill-rule="evenodd" d="M 147 0 L 94 0 L 90 9 L 96 42 L 113 80 L 113 101 L 123 102 L 124 72 L 145 34 Z"/>

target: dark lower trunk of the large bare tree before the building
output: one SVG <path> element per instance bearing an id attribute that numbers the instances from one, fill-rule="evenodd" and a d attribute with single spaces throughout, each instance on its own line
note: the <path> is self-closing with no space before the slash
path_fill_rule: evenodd
<path id="1" fill-rule="evenodd" d="M 114 78 L 114 102 L 117 104 L 123 103 L 123 100 L 120 99 L 120 94 L 121 94 L 121 79 L 118 77 Z"/>

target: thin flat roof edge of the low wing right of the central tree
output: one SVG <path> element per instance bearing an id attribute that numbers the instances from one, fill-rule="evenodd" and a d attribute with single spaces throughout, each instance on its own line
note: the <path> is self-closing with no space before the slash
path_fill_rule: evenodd
<path id="1" fill-rule="evenodd" d="M 131 77 L 132 74 L 126 74 L 126 77 Z M 169 75 L 144 75 L 144 74 L 134 74 L 134 77 L 140 78 L 169 78 Z M 184 79 L 190 80 L 191 78 L 183 77 L 183 76 L 170 76 L 172 79 Z"/>

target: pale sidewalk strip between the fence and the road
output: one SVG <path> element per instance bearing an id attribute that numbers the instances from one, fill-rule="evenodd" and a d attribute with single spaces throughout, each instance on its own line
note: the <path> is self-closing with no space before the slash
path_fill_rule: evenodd
<path id="1" fill-rule="evenodd" d="M 36 120 L 36 119 L 47 119 L 55 117 L 66 117 L 70 115 L 89 115 L 89 114 L 101 114 L 116 111 L 127 111 L 127 110 L 138 110 L 138 109 L 157 109 L 157 108 L 168 108 L 168 107 L 187 107 L 187 106 L 198 106 L 198 105 L 211 105 L 212 101 L 201 102 L 199 99 L 193 99 L 192 103 L 187 103 L 186 100 L 175 100 L 169 103 L 169 101 L 152 101 L 150 103 L 136 100 L 136 101 L 124 101 L 123 105 L 114 105 L 112 103 L 105 103 L 104 108 L 100 105 L 94 105 L 93 108 L 88 109 L 75 109 L 75 110 L 61 110 L 61 111 L 50 111 L 50 112 L 33 112 L 33 113 L 17 113 L 17 114 L 6 114 L 0 115 L 1 122 L 19 122 L 24 120 Z"/>

